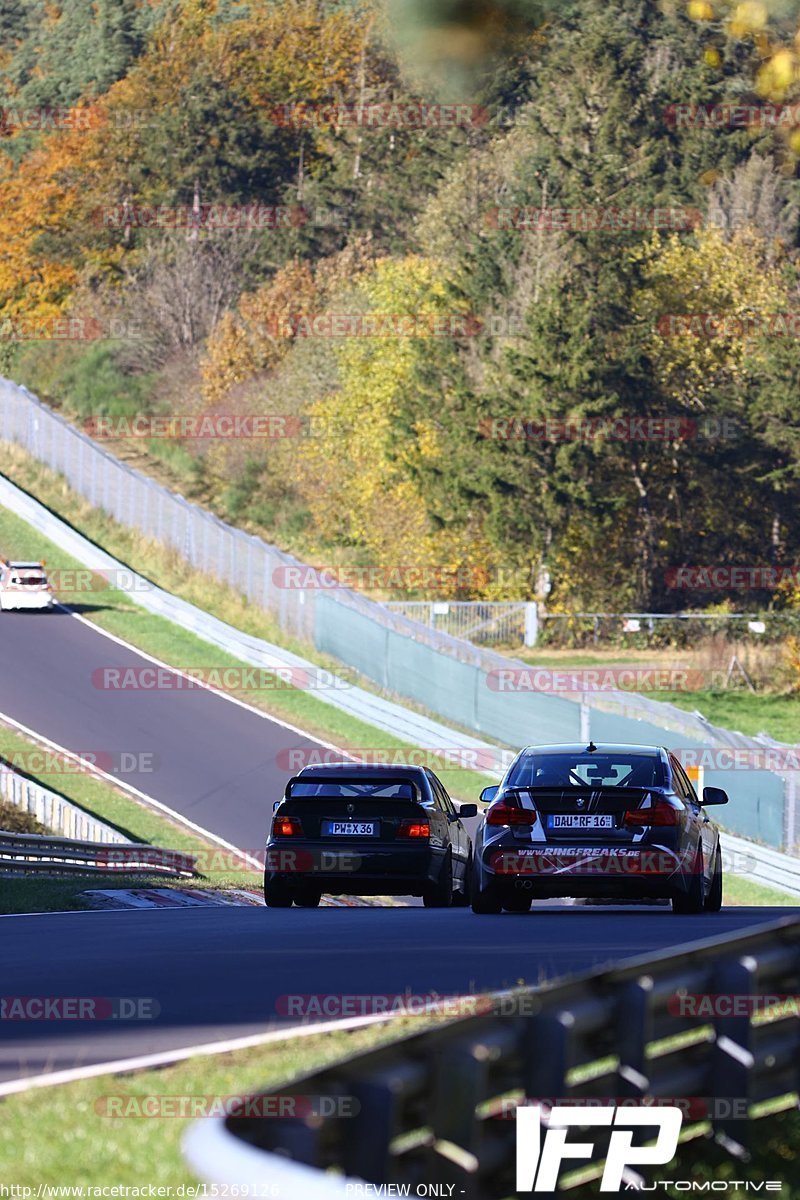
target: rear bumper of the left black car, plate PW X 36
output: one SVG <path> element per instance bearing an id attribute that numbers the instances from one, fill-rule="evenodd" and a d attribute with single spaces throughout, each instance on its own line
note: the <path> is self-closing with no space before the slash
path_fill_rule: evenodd
<path id="1" fill-rule="evenodd" d="M 311 883 L 333 895 L 414 895 L 434 883 L 445 848 L 431 846 L 345 846 L 330 841 L 267 842 L 264 877 Z"/>

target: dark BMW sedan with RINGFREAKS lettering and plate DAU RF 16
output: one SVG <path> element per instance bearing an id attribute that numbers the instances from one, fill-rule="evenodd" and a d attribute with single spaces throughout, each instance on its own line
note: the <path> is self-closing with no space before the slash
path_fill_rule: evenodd
<path id="1" fill-rule="evenodd" d="M 720 834 L 705 810 L 728 797 L 705 787 L 698 798 L 663 746 L 529 746 L 481 799 L 473 912 L 557 896 L 722 906 Z"/>

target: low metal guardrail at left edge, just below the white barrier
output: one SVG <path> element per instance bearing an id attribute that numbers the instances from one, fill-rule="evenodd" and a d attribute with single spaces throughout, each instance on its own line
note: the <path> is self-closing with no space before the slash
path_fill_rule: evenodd
<path id="1" fill-rule="evenodd" d="M 102 845 L 73 838 L 0 832 L 0 875 L 197 875 L 196 859 L 160 846 Z"/>

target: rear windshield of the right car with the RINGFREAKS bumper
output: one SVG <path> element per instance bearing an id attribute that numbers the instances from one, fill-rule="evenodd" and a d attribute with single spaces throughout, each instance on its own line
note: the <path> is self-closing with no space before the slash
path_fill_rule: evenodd
<path id="1" fill-rule="evenodd" d="M 513 768 L 509 787 L 663 787 L 661 758 L 640 754 L 527 755 Z"/>

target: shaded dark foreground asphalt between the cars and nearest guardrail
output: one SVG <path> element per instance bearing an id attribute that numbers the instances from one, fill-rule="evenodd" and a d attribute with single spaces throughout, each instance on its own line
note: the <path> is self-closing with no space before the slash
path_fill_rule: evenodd
<path id="1" fill-rule="evenodd" d="M 155 1020 L 0 1020 L 0 1079 L 377 1010 L 359 997 L 463 995 L 685 948 L 786 916 L 537 904 L 465 908 L 253 907 L 0 918 L 2 996 L 145 1000 Z M 290 998 L 294 997 L 294 998 Z M 314 1001 L 297 997 L 318 997 Z M 155 1004 L 154 1004 L 155 1002 Z M 8 1010 L 8 1009 L 7 1009 Z"/>

